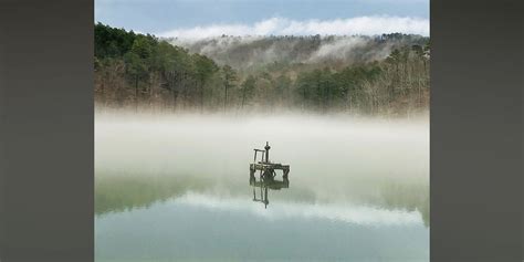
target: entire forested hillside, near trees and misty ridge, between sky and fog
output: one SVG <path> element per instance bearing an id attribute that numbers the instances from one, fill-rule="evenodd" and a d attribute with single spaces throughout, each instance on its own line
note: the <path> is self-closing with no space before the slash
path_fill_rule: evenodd
<path id="1" fill-rule="evenodd" d="M 429 39 L 160 40 L 95 24 L 95 102 L 164 111 L 406 115 L 429 105 Z"/>

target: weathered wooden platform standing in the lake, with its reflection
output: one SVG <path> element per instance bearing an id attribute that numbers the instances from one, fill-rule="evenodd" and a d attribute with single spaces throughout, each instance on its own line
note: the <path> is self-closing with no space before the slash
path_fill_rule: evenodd
<path id="1" fill-rule="evenodd" d="M 280 190 L 282 188 L 290 187 L 290 165 L 271 163 L 270 149 L 271 147 L 268 142 L 265 143 L 264 149 L 253 149 L 253 163 L 249 166 L 249 184 L 253 187 L 253 201 L 264 203 L 265 208 L 268 208 L 268 205 L 270 203 L 268 198 L 268 189 Z M 259 153 L 261 153 L 261 160 L 258 160 Z M 276 179 L 276 170 L 282 170 L 282 180 Z M 256 197 L 256 188 L 260 188 L 260 198 Z"/>

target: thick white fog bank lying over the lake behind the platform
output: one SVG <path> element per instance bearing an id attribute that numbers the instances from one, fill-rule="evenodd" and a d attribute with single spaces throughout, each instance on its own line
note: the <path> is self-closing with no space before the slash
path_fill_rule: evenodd
<path id="1" fill-rule="evenodd" d="M 369 200 L 391 185 L 398 191 L 429 181 L 426 118 L 290 114 L 97 113 L 96 176 L 191 177 L 217 195 L 239 195 L 249 185 L 253 148 L 265 142 L 271 161 L 291 165 L 291 187 L 314 202 Z"/>

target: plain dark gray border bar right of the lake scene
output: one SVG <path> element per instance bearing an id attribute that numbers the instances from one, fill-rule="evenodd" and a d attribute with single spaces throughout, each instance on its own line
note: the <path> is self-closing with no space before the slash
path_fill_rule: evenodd
<path id="1" fill-rule="evenodd" d="M 522 1 L 431 1 L 431 261 L 522 260 Z"/>

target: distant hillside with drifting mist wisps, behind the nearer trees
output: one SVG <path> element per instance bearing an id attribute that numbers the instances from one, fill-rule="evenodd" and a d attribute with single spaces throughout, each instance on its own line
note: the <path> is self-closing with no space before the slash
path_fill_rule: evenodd
<path id="1" fill-rule="evenodd" d="M 408 40 L 410 39 L 410 40 Z M 386 59 L 402 41 L 417 41 L 420 36 L 405 40 L 381 41 L 366 35 L 312 36 L 222 36 L 198 40 L 169 39 L 171 44 L 184 46 L 191 53 L 200 53 L 219 64 L 237 70 L 274 62 L 315 64 L 327 61 L 364 63 Z M 406 42 L 407 43 L 407 42 Z M 405 43 L 405 44 L 406 44 Z"/>

